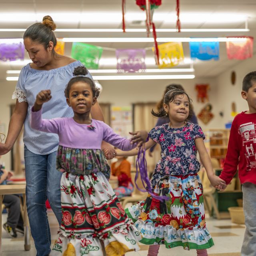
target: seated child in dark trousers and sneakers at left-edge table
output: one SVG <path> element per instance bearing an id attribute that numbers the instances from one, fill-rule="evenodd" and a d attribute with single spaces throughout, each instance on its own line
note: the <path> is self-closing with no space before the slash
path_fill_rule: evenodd
<path id="1" fill-rule="evenodd" d="M 7 171 L 4 166 L 0 165 L 0 185 L 6 185 L 6 180 L 12 177 L 12 172 Z M 3 224 L 8 236 L 17 237 L 16 232 L 24 234 L 23 219 L 20 213 L 19 195 L 5 195 L 3 204 L 8 208 L 7 222 Z"/>

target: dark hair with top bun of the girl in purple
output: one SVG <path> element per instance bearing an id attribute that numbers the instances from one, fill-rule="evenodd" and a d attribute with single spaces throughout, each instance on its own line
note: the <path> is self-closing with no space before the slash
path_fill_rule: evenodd
<path id="1" fill-rule="evenodd" d="M 100 94 L 100 90 L 96 87 L 92 79 L 86 76 L 87 74 L 88 74 L 88 70 L 84 66 L 78 66 L 74 69 L 74 72 L 73 72 L 74 77 L 70 79 L 65 89 L 66 98 L 69 98 L 70 88 L 72 84 L 76 82 L 84 82 L 86 84 L 89 84 L 92 88 L 93 97 L 96 96 L 98 98 Z"/>

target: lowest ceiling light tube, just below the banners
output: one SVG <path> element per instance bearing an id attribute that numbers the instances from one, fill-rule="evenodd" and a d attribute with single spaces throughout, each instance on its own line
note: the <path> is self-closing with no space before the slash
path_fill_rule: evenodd
<path id="1" fill-rule="evenodd" d="M 117 76 L 94 76 L 94 80 L 152 80 L 152 79 L 193 79 L 194 75 L 117 75 Z M 17 81 L 18 76 L 7 76 L 7 81 Z"/>

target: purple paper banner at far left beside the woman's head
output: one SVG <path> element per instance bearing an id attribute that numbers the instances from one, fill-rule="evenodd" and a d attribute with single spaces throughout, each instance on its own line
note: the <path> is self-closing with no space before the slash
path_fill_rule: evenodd
<path id="1" fill-rule="evenodd" d="M 25 47 L 23 42 L 0 43 L 0 60 L 24 60 Z"/>

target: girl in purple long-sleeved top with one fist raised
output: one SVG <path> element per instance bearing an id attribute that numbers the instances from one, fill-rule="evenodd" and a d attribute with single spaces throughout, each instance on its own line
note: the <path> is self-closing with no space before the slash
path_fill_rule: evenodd
<path id="1" fill-rule="evenodd" d="M 42 119 L 42 105 L 51 99 L 50 90 L 41 91 L 31 113 L 31 127 L 59 136 L 57 169 L 63 172 L 60 190 L 62 223 L 50 255 L 124 255 L 139 250 L 139 233 L 131 225 L 108 183 L 110 167 L 101 150 L 102 140 L 131 150 L 146 141 L 146 131 L 133 132 L 131 140 L 122 138 L 104 122 L 90 119 L 91 107 L 99 91 L 77 67 L 65 96 L 74 111 L 73 118 Z M 104 247 L 102 246 L 104 245 Z"/>

